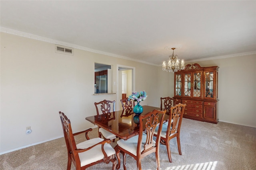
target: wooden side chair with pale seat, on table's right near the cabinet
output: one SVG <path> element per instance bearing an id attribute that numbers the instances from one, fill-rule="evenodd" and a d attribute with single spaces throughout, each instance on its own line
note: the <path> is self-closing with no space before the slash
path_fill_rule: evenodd
<path id="1" fill-rule="evenodd" d="M 177 144 L 178 144 L 178 151 L 179 154 L 182 155 L 181 149 L 180 149 L 180 126 L 182 122 L 182 117 L 184 113 L 186 104 L 176 104 L 175 106 L 172 106 L 170 108 L 170 114 L 168 124 L 162 125 L 161 135 L 160 135 L 160 143 L 163 145 L 166 145 L 167 148 L 167 154 L 169 161 L 172 162 L 171 157 L 171 151 L 170 151 L 170 140 L 174 137 L 177 138 Z M 172 121 L 171 121 L 172 120 Z M 158 137 L 159 135 L 159 128 L 157 127 L 154 131 L 154 136 Z"/>

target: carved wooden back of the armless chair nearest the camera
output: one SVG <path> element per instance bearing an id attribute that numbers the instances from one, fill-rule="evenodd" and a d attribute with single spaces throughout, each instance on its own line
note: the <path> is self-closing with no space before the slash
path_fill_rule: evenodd
<path id="1" fill-rule="evenodd" d="M 164 121 L 164 116 L 165 116 L 166 110 L 160 111 L 154 109 L 152 112 L 148 112 L 145 115 L 140 115 L 140 129 L 139 129 L 139 136 L 138 136 L 138 149 L 137 149 L 137 156 L 143 154 L 144 152 L 159 152 L 159 142 L 160 142 L 160 134 L 162 131 L 162 124 Z M 156 137 L 156 143 L 154 144 L 153 141 L 153 136 L 154 136 L 154 131 L 156 127 L 159 125 L 158 128 L 158 134 Z M 142 147 L 142 136 L 143 136 L 143 131 L 145 130 L 146 132 L 146 143 L 144 144 L 143 151 L 141 152 L 141 147 Z M 158 149 L 158 150 L 155 150 Z"/>

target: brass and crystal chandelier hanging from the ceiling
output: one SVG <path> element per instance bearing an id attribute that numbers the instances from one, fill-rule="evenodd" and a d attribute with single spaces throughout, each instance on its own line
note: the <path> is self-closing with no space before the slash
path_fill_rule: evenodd
<path id="1" fill-rule="evenodd" d="M 166 71 L 166 72 L 177 72 L 177 71 L 180 71 L 180 70 L 184 70 L 185 68 L 185 63 L 184 63 L 184 60 L 182 59 L 181 60 L 181 63 L 180 63 L 180 59 L 178 59 L 178 55 L 174 55 L 174 50 L 176 48 L 172 48 L 173 52 L 172 52 L 172 55 L 169 56 L 169 60 L 167 61 L 167 65 L 166 65 L 166 61 L 163 61 L 163 70 Z"/>

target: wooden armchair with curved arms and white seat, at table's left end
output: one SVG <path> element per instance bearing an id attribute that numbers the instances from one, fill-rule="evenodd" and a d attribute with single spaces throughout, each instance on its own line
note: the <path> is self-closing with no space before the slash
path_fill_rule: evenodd
<path id="1" fill-rule="evenodd" d="M 92 128 L 73 134 L 68 117 L 61 111 L 59 115 L 68 150 L 67 170 L 71 169 L 72 162 L 76 170 L 85 170 L 89 166 L 101 162 L 108 164 L 110 161 L 113 163 L 112 170 L 115 170 L 117 164 L 115 157 L 116 151 L 110 145 L 110 140 L 103 140 L 101 138 L 90 139 L 88 132 L 92 131 Z M 74 136 L 81 133 L 85 133 L 87 140 L 76 145 Z"/>

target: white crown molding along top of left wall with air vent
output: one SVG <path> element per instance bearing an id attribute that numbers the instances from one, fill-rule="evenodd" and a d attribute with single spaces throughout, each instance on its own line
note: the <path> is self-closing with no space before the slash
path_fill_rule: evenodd
<path id="1" fill-rule="evenodd" d="M 116 54 L 112 54 L 112 53 L 107 53 L 107 52 L 96 50 L 96 49 L 90 49 L 90 48 L 83 47 L 83 46 L 80 46 L 80 45 L 66 43 L 66 42 L 62 42 L 62 41 L 58 41 L 58 40 L 54 40 L 54 39 L 50 39 L 50 38 L 46 38 L 46 37 L 41 37 L 41 36 L 30 34 L 30 33 L 24 33 L 24 32 L 21 32 L 21 31 L 17 31 L 17 30 L 5 28 L 5 27 L 0 27 L 0 31 L 4 32 L 4 33 L 9 33 L 9 34 L 12 34 L 12 35 L 18 35 L 18 36 L 21 36 L 21 37 L 26 37 L 26 38 L 30 38 L 30 39 L 36 39 L 36 40 L 39 40 L 39 41 L 44 41 L 44 42 L 47 42 L 47 43 L 63 45 L 63 46 L 66 46 L 66 47 L 72 47 L 72 48 L 75 48 L 75 49 L 89 51 L 89 52 L 92 52 L 92 53 L 98 53 L 98 54 L 108 55 L 108 56 L 116 57 L 116 58 L 120 58 L 120 59 L 126 59 L 126 60 L 130 60 L 130 61 L 136 61 L 136 62 L 139 62 L 139 63 L 144 63 L 144 64 L 150 64 L 150 65 L 158 66 L 158 64 L 153 64 L 153 63 L 149 63 L 149 62 L 146 62 L 146 61 L 132 59 L 130 57 L 125 57 L 125 56 L 122 56 L 122 55 L 116 55 Z"/>

